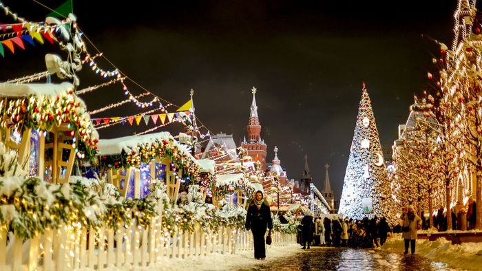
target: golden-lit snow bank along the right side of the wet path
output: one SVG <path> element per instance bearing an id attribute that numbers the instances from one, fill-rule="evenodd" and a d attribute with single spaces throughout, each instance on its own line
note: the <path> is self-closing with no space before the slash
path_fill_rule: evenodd
<path id="1" fill-rule="evenodd" d="M 401 234 L 395 234 L 381 247 L 383 250 L 401 252 L 405 250 Z M 453 268 L 482 270 L 482 243 L 461 243 L 452 245 L 445 238 L 437 241 L 417 240 L 415 254 L 434 261 L 443 261 Z M 409 250 L 410 251 L 410 250 Z"/>

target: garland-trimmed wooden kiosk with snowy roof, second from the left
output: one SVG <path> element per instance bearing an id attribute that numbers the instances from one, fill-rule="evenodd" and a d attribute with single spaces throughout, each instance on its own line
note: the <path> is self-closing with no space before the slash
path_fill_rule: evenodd
<path id="1" fill-rule="evenodd" d="M 123 197 L 147 195 L 151 180 L 164 180 L 174 202 L 180 184 L 197 178 L 200 164 L 168 132 L 99 140 L 99 164 L 107 170 L 107 182 Z"/>

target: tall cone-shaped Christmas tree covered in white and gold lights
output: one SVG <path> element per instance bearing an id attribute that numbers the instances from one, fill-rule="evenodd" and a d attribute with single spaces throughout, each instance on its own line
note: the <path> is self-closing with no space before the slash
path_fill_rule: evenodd
<path id="1" fill-rule="evenodd" d="M 389 186 L 377 124 L 364 84 L 339 213 L 353 219 L 385 215 L 384 207 L 388 208 L 386 202 L 391 199 L 387 194 Z"/>

